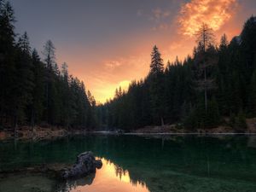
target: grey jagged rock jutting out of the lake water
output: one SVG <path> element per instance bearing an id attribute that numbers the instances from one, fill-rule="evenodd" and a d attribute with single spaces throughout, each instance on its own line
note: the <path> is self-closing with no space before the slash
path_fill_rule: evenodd
<path id="1" fill-rule="evenodd" d="M 72 168 L 67 169 L 62 174 L 63 178 L 78 178 L 96 172 L 96 168 L 102 168 L 102 160 L 96 160 L 92 152 L 79 154 L 77 162 Z"/>

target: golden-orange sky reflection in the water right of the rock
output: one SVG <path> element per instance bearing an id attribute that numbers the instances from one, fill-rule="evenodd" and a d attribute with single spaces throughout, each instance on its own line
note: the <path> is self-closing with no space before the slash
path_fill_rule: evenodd
<path id="1" fill-rule="evenodd" d="M 96 177 L 90 185 L 77 186 L 72 192 L 148 192 L 143 183 L 132 183 L 128 171 L 115 166 L 112 162 L 102 159 L 102 168 L 96 170 Z"/>

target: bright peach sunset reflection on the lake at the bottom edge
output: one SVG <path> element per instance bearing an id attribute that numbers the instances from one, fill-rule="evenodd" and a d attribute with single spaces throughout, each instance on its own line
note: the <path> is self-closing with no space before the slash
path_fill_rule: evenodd
<path id="1" fill-rule="evenodd" d="M 59 192 L 148 192 L 144 183 L 132 181 L 127 170 L 114 165 L 111 161 L 102 158 L 102 169 L 96 174 L 75 181 L 67 181 L 58 189 Z"/>

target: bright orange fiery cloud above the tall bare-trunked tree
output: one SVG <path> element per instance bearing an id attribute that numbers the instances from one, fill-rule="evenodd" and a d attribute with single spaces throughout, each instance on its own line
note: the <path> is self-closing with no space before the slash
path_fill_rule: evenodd
<path id="1" fill-rule="evenodd" d="M 193 36 L 202 23 L 218 31 L 235 14 L 237 7 L 237 0 L 191 0 L 182 5 L 177 22 L 183 35 Z"/>

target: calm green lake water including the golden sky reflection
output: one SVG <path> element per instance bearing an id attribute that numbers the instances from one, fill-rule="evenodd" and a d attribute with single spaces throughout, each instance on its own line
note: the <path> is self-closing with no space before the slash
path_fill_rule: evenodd
<path id="1" fill-rule="evenodd" d="M 255 136 L 88 135 L 49 141 L 0 143 L 0 169 L 73 163 L 93 151 L 103 166 L 95 175 L 59 183 L 24 173 L 0 177 L 0 191 L 253 192 Z"/>

